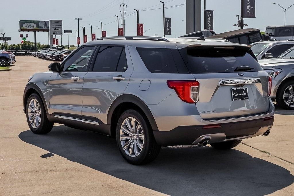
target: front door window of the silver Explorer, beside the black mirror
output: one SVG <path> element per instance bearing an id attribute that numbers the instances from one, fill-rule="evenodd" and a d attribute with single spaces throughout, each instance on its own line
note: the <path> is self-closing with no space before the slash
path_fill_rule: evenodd
<path id="1" fill-rule="evenodd" d="M 64 63 L 64 71 L 86 71 L 94 46 L 83 47 Z"/>

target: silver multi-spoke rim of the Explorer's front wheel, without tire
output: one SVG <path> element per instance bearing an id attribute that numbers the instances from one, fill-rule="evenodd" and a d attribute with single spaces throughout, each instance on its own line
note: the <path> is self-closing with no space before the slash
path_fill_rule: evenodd
<path id="1" fill-rule="evenodd" d="M 33 128 L 38 128 L 41 123 L 41 106 L 36 99 L 32 99 L 28 108 L 29 122 Z"/>

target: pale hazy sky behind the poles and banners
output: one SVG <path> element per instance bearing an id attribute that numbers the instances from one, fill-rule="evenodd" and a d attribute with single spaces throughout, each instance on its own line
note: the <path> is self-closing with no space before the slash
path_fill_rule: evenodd
<path id="1" fill-rule="evenodd" d="M 188 0 L 187 0 L 188 1 Z M 164 0 L 166 7 L 185 4 L 186 0 Z M 75 18 L 82 18 L 80 21 L 80 37 L 83 35 L 81 27 L 86 27 L 88 40 L 91 38 L 91 29 L 96 37 L 101 36 L 102 21 L 103 30 L 107 31 L 107 36 L 117 35 L 116 16 L 121 18 L 120 4 L 122 0 L 15 0 L 13 5 L 1 9 L 0 33 L 10 36 L 11 43 L 20 43 L 19 20 L 63 20 L 63 30 L 73 30 L 69 37 L 69 44 L 76 44 L 76 31 L 78 21 Z M 162 36 L 162 4 L 158 0 L 125 0 L 126 8 L 126 35 L 136 35 L 136 13 L 134 9 L 140 11 L 139 22 L 144 24 L 144 30 L 151 29 L 145 33 L 147 36 Z M 248 28 L 258 28 L 265 31 L 266 26 L 284 25 L 284 12 L 278 5 L 287 8 L 294 3 L 293 0 L 256 0 L 256 18 L 245 19 Z M 149 10 L 153 9 L 153 10 Z M 236 14 L 240 14 L 240 0 L 206 0 L 206 9 L 214 10 L 214 30 L 216 33 L 232 31 L 238 29 L 233 27 L 237 23 Z M 203 10 L 203 1 L 202 8 Z M 203 12 L 203 11 L 202 11 Z M 203 14 L 202 14 L 203 15 Z M 201 16 L 202 16 L 201 15 Z M 168 8 L 165 16 L 172 18 L 172 34 L 166 37 L 178 37 L 186 34 L 186 5 Z M 286 14 L 286 25 L 294 25 L 294 6 Z M 121 24 L 121 21 L 120 21 Z M 202 24 L 203 26 L 203 24 Z M 202 27 L 203 29 L 203 27 Z M 26 34 L 26 32 L 24 32 Z M 28 41 L 34 41 L 34 33 L 29 32 Z M 57 36 L 57 38 L 60 36 Z M 63 35 L 63 44 L 67 44 L 67 35 Z M 82 39 L 81 39 L 82 41 Z M 48 33 L 37 32 L 37 42 L 48 44 Z M 59 40 L 60 43 L 60 40 Z"/>

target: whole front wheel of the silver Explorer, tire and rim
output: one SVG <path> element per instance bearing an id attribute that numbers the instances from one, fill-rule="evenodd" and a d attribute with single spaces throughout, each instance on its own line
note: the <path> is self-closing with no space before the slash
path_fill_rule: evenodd
<path id="1" fill-rule="evenodd" d="M 42 100 L 36 93 L 31 94 L 26 103 L 26 120 L 35 134 L 49 133 L 54 125 L 47 119 Z"/>

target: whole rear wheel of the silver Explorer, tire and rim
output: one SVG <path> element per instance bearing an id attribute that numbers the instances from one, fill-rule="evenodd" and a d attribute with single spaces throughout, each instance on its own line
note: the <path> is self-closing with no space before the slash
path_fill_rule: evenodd
<path id="1" fill-rule="evenodd" d="M 126 110 L 118 119 L 116 142 L 123 158 L 133 165 L 149 163 L 160 150 L 148 119 L 136 110 Z"/>

